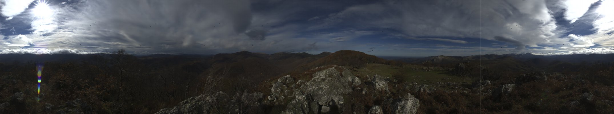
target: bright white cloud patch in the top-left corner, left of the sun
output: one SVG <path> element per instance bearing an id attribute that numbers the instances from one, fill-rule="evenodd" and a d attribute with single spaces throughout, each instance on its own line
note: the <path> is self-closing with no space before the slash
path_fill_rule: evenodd
<path id="1" fill-rule="evenodd" d="M 14 17 L 15 15 L 19 15 L 21 12 L 26 10 L 30 3 L 34 0 L 0 0 L 3 4 L 0 4 L 2 7 L 0 9 L 2 15 L 4 17 Z M 10 19 L 7 19 L 10 20 Z"/>

